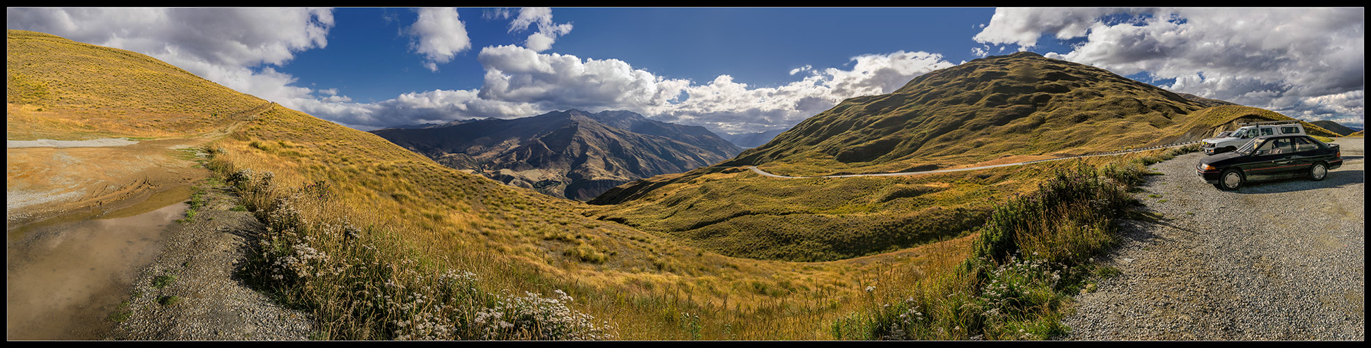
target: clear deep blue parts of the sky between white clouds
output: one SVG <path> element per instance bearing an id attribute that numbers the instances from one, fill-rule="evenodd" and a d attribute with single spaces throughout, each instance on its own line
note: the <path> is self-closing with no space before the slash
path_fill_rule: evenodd
<path id="1" fill-rule="evenodd" d="M 509 19 L 483 19 L 488 8 L 458 8 L 472 47 L 518 44 L 526 33 L 509 33 Z M 961 62 L 976 59 L 971 47 L 978 23 L 994 8 L 553 8 L 555 22 L 573 33 L 557 40 L 554 52 L 590 59 L 620 59 L 665 78 L 779 86 L 795 81 L 790 70 L 840 67 L 871 52 L 946 52 Z M 391 18 L 389 21 L 387 18 Z M 318 88 L 337 88 L 354 100 L 381 101 L 404 92 L 476 89 L 484 70 L 476 52 L 422 67 L 409 51 L 403 26 L 410 8 L 337 8 L 326 48 L 296 53 L 277 70 Z M 823 23 L 823 25 L 816 25 Z M 938 33 L 920 36 L 916 33 Z M 860 40 L 853 40 L 858 37 Z M 376 69 L 373 69 L 376 67 Z M 347 71 L 340 74 L 340 71 Z"/>

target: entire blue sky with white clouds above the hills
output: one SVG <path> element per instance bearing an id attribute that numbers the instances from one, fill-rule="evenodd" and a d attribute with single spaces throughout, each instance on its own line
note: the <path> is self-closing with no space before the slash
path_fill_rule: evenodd
<path id="1" fill-rule="evenodd" d="M 629 110 L 717 133 L 1032 51 L 1364 123 L 1364 8 L 8 8 L 356 129 Z"/>

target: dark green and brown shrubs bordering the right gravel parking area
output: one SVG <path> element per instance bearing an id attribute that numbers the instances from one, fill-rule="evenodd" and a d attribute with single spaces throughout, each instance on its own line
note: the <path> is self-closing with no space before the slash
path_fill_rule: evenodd
<path id="1" fill-rule="evenodd" d="M 1116 243 L 1115 219 L 1135 201 L 1141 162 L 1058 170 L 1038 190 L 997 206 L 951 273 L 912 296 L 832 323 L 845 340 L 1047 340 L 1067 333 L 1064 306 Z"/>

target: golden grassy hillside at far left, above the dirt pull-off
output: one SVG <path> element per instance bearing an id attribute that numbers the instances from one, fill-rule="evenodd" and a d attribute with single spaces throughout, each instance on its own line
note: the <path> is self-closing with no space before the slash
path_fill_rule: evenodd
<path id="1" fill-rule="evenodd" d="M 266 100 L 156 59 L 5 32 L 5 138 L 169 137 L 223 126 Z"/>

